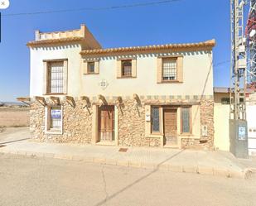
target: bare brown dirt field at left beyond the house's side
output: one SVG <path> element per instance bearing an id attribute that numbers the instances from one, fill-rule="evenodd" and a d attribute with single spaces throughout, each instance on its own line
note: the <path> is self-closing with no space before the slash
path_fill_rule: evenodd
<path id="1" fill-rule="evenodd" d="M 0 107 L 0 132 L 4 127 L 28 127 L 29 108 Z"/>

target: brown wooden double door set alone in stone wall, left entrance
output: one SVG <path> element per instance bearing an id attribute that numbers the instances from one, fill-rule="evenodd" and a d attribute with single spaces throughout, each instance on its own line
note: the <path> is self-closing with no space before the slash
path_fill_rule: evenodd
<path id="1" fill-rule="evenodd" d="M 114 106 L 99 107 L 99 141 L 114 141 Z"/>

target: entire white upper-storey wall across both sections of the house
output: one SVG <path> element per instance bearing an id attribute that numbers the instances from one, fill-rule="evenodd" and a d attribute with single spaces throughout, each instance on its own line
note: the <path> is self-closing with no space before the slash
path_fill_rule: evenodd
<path id="1" fill-rule="evenodd" d="M 157 54 L 137 55 L 137 78 L 117 79 L 117 58 L 100 57 L 99 74 L 83 74 L 80 64 L 81 46 L 51 46 L 31 48 L 31 96 L 43 95 L 43 60 L 68 59 L 67 93 L 81 95 L 130 96 L 138 95 L 213 95 L 211 53 L 197 51 L 164 53 L 184 55 L 183 83 L 157 84 Z M 102 89 L 99 82 L 105 79 L 109 86 Z"/>

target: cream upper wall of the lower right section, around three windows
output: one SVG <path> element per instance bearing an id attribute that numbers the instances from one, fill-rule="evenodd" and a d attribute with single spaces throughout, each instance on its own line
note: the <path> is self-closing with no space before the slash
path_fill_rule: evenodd
<path id="1" fill-rule="evenodd" d="M 82 93 L 87 96 L 138 95 L 213 95 L 212 56 L 206 52 L 186 52 L 184 55 L 183 83 L 157 84 L 157 55 L 137 55 L 137 78 L 117 79 L 117 59 L 127 56 L 99 58 L 99 74 L 82 74 Z M 89 60 L 86 59 L 85 60 Z M 102 89 L 105 79 L 109 86 Z M 205 88 L 205 89 L 204 89 Z"/>

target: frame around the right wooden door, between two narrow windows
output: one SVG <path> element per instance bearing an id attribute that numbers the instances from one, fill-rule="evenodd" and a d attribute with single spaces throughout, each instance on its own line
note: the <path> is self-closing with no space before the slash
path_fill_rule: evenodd
<path id="1" fill-rule="evenodd" d="M 166 110 L 169 109 L 175 109 L 176 110 L 176 145 L 171 145 L 171 146 L 167 146 L 165 144 L 165 117 L 164 117 L 164 113 Z M 178 118 L 179 118 L 179 113 L 178 113 L 179 107 L 177 106 L 163 106 L 162 107 L 162 146 L 167 146 L 167 147 L 175 147 L 175 148 L 180 148 L 180 141 L 179 141 L 179 135 L 178 135 Z"/>

